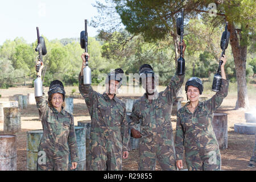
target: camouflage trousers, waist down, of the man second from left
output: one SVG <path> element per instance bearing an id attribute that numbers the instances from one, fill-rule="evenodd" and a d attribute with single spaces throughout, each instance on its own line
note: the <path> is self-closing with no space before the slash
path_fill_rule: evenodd
<path id="1" fill-rule="evenodd" d="M 119 142 L 115 143 L 105 137 L 98 138 L 98 136 L 93 135 L 91 137 L 88 170 L 121 171 L 122 145 L 118 145 Z"/>

